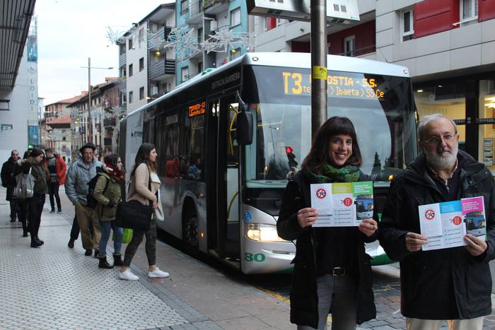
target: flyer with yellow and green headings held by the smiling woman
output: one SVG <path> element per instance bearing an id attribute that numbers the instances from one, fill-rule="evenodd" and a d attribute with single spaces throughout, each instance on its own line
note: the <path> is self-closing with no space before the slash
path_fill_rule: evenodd
<path id="1" fill-rule="evenodd" d="M 313 227 L 354 227 L 373 218 L 373 182 L 311 184 L 311 207 L 320 216 Z"/>

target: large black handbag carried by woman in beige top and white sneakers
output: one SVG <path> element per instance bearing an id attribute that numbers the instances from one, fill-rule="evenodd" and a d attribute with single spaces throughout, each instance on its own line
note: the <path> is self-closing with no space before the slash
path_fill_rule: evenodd
<path id="1" fill-rule="evenodd" d="M 151 191 L 151 178 L 148 179 L 148 189 Z M 119 204 L 117 204 L 117 212 L 115 213 L 115 224 L 117 225 L 117 227 L 129 228 L 139 232 L 145 232 L 149 229 L 152 215 L 153 206 L 151 204 L 144 205 L 139 203 L 139 201 L 134 200 L 121 201 Z"/>

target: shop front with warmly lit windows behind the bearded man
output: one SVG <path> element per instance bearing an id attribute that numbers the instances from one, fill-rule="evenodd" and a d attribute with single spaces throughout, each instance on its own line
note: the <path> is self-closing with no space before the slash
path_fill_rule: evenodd
<path id="1" fill-rule="evenodd" d="M 419 120 L 435 113 L 454 119 L 459 148 L 495 176 L 495 72 L 413 86 Z"/>

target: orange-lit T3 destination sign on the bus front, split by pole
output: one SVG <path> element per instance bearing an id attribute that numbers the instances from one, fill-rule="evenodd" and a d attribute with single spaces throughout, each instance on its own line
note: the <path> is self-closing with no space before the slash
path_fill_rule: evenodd
<path id="1" fill-rule="evenodd" d="M 301 72 L 282 71 L 285 95 L 311 95 L 311 75 Z M 327 93 L 330 98 L 357 98 L 363 100 L 383 100 L 385 92 L 378 88 L 375 78 L 365 78 L 362 74 L 339 73 L 327 76 Z"/>

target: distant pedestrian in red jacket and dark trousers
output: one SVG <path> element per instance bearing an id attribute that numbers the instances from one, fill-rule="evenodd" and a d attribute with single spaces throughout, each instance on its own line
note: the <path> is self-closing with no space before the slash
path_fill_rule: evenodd
<path id="1" fill-rule="evenodd" d="M 65 183 L 66 170 L 64 159 L 53 153 L 52 148 L 45 150 L 47 158 L 45 158 L 45 167 L 50 172 L 50 185 L 48 186 L 48 192 L 50 194 L 50 206 L 52 209 L 50 213 L 55 212 L 55 202 L 57 201 L 57 213 L 62 212 L 62 204 L 60 203 L 59 187 Z"/>

